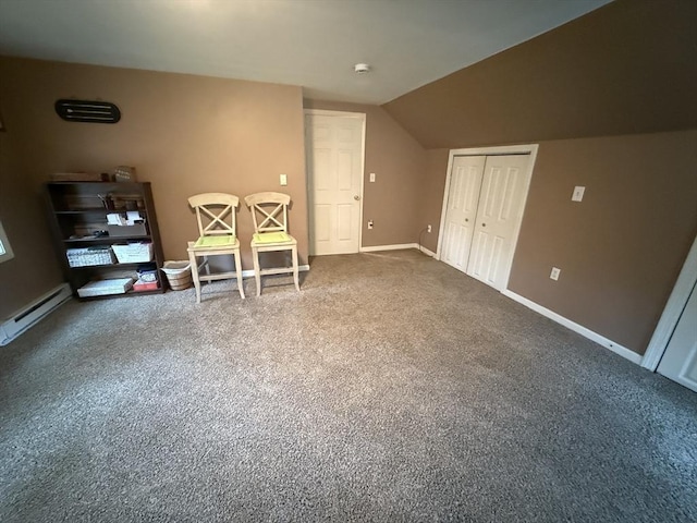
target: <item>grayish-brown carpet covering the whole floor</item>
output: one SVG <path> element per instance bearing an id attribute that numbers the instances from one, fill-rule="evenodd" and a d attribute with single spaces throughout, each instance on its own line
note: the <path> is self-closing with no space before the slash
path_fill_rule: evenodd
<path id="1" fill-rule="evenodd" d="M 697 521 L 696 394 L 417 251 L 71 301 L 0 351 L 0 521 Z"/>

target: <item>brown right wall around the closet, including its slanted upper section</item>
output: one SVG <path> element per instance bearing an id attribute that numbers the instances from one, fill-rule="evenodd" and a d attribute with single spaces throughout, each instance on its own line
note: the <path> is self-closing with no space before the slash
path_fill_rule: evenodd
<path id="1" fill-rule="evenodd" d="M 425 221 L 444 150 L 539 143 L 509 287 L 639 354 L 697 233 L 695 20 L 617 0 L 383 106 L 428 149 Z"/>

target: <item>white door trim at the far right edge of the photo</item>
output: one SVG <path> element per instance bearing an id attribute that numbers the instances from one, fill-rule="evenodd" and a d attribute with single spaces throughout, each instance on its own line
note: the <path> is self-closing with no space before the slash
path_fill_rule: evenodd
<path id="1" fill-rule="evenodd" d="M 658 364 L 661 362 L 665 349 L 668 349 L 668 343 L 671 341 L 695 284 L 697 284 L 697 236 L 693 241 L 693 246 L 687 253 L 677 280 L 675 280 L 675 287 L 673 287 L 673 291 L 665 303 L 661 319 L 659 319 L 653 336 L 651 336 L 651 341 L 649 341 L 644 353 L 641 358 L 644 368 L 648 368 L 652 373 L 658 368 Z"/>

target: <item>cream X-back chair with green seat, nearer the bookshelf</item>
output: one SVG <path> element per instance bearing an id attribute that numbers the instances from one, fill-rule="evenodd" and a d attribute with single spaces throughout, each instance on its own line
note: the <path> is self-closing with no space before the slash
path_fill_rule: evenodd
<path id="1" fill-rule="evenodd" d="M 235 212 L 240 198 L 233 194 L 204 193 L 188 198 L 188 205 L 196 210 L 198 240 L 188 242 L 188 260 L 192 266 L 192 279 L 196 288 L 196 303 L 200 303 L 200 282 L 236 278 L 240 296 L 244 297 L 242 282 L 242 262 Z M 208 256 L 234 257 L 234 271 L 210 272 Z M 199 265 L 198 260 L 203 258 Z M 200 269 L 206 270 L 205 275 Z"/>

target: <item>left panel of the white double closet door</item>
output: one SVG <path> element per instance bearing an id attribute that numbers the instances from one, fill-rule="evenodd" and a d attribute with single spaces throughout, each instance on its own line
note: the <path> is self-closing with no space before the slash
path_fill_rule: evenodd
<path id="1" fill-rule="evenodd" d="M 450 177 L 441 259 L 465 272 L 469 260 L 486 156 L 457 156 Z"/>

